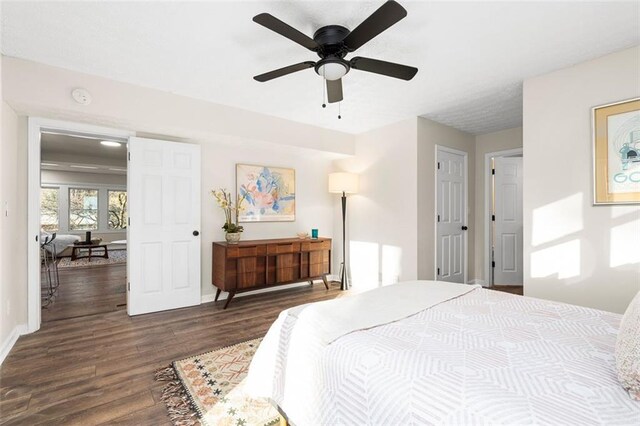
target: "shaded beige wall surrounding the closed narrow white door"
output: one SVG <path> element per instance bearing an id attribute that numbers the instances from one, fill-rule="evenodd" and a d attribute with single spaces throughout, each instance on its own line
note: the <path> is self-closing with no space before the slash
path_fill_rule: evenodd
<path id="1" fill-rule="evenodd" d="M 472 177 L 475 173 L 475 138 L 473 135 L 452 127 L 436 123 L 426 118 L 418 118 L 417 167 L 418 167 L 418 277 L 424 280 L 435 279 L 435 199 L 436 199 L 436 145 L 442 145 L 464 151 L 468 154 L 468 217 L 467 234 L 468 263 L 467 281 L 473 278 L 474 271 L 474 223 L 475 185 Z M 415 160 L 414 160 L 415 161 Z"/>

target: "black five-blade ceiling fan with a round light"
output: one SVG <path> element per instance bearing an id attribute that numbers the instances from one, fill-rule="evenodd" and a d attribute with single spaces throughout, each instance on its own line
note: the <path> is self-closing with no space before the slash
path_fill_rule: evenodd
<path id="1" fill-rule="evenodd" d="M 327 25 L 318 29 L 313 34 L 313 38 L 310 38 L 268 13 L 256 15 L 253 17 L 254 22 L 306 47 L 312 52 L 316 52 L 320 60 L 318 62 L 300 62 L 299 64 L 269 71 L 253 78 L 257 81 L 265 82 L 297 71 L 314 68 L 316 73 L 327 81 L 329 103 L 342 100 L 341 79 L 350 69 L 368 71 L 402 80 L 411 80 L 418 72 L 417 68 L 360 56 L 345 59 L 347 54 L 359 49 L 405 16 L 407 16 L 407 11 L 397 2 L 390 0 L 380 6 L 378 10 L 373 12 L 353 31 L 349 31 L 340 25 Z"/>

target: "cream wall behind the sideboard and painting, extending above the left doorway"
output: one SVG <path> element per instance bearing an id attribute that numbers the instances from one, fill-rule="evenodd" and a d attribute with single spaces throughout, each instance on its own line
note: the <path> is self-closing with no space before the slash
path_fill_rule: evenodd
<path id="1" fill-rule="evenodd" d="M 210 190 L 234 188 L 238 162 L 296 169 L 297 220 L 246 224 L 243 239 L 292 237 L 311 228 L 333 236 L 334 199 L 327 193 L 326 179 L 333 160 L 355 151 L 352 135 L 15 58 L 3 57 L 2 69 L 3 84 L 10 88 L 3 95 L 19 115 L 134 130 L 142 137 L 202 146 L 204 296 L 213 293 L 211 242 L 224 239 L 223 214 Z M 72 101 L 70 92 L 75 87 L 92 93 L 91 105 Z M 26 130 L 24 120 L 18 131 L 26 137 Z M 18 166 L 26 171 L 26 157 Z M 18 180 L 26 188 L 26 173 Z M 26 237 L 26 216 L 16 232 Z M 16 285 L 26 288 L 26 278 Z"/>

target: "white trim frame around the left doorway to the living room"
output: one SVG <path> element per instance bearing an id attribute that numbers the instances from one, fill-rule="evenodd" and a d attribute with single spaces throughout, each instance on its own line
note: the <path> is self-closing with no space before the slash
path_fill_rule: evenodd
<path id="1" fill-rule="evenodd" d="M 27 332 L 40 329 L 40 134 L 43 130 L 112 139 L 134 136 L 129 130 L 52 120 L 27 118 Z M 128 165 L 127 165 L 128 167 Z"/>

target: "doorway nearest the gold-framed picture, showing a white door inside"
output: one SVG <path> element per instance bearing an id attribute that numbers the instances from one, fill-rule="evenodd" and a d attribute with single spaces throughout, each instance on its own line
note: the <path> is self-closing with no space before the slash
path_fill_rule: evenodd
<path id="1" fill-rule="evenodd" d="M 522 294 L 522 149 L 485 156 L 486 281 Z"/>

